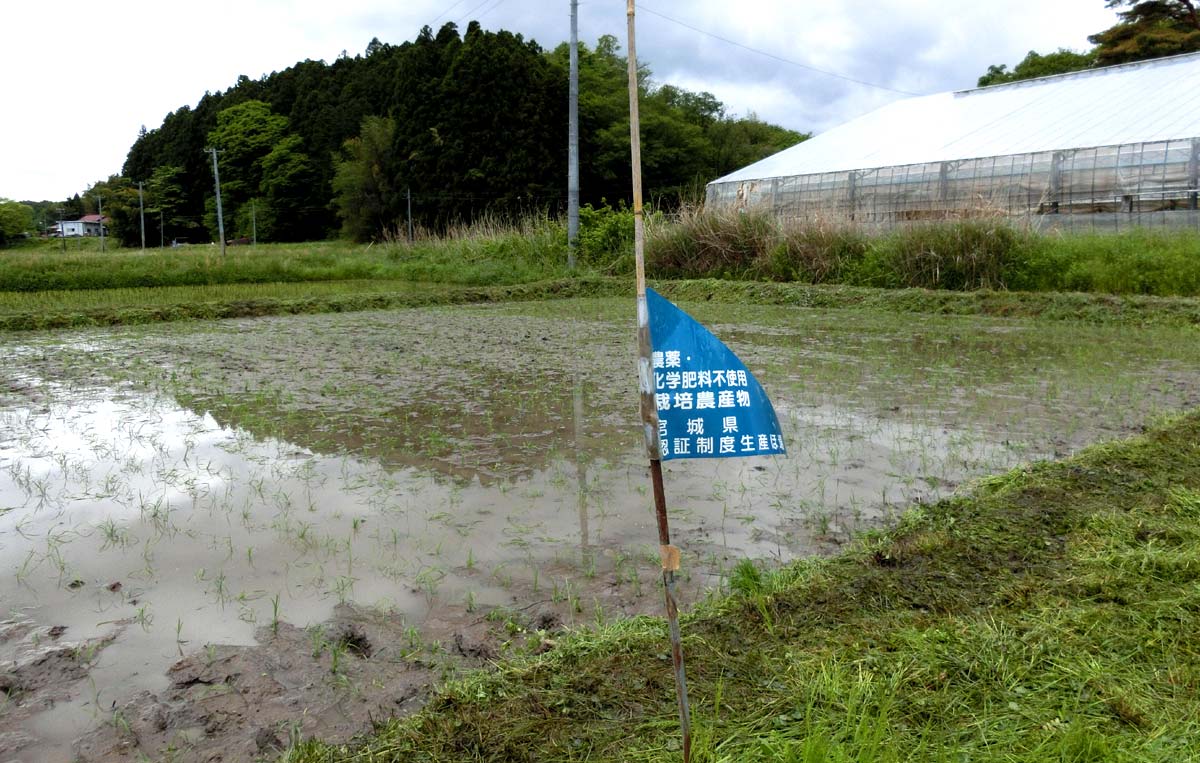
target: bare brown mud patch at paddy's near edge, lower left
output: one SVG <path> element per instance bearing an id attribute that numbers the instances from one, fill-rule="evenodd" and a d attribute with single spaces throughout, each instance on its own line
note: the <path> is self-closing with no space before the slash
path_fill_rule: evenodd
<path id="1" fill-rule="evenodd" d="M 479 667 L 518 636 L 520 649 L 552 642 L 548 612 L 463 618 L 421 641 L 395 613 L 338 606 L 319 626 L 259 629 L 252 647 L 210 645 L 174 662 L 169 684 L 143 691 L 74 744 L 80 762 L 250 761 L 307 737 L 346 741 L 376 721 L 420 708 L 436 681 Z M 428 631 L 425 631 L 428 632 Z"/>

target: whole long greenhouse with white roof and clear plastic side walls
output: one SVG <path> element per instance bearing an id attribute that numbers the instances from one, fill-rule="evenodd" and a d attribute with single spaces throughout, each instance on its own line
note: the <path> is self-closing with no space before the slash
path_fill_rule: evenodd
<path id="1" fill-rule="evenodd" d="M 1200 228 L 1200 54 L 896 101 L 714 180 L 784 221 Z"/>

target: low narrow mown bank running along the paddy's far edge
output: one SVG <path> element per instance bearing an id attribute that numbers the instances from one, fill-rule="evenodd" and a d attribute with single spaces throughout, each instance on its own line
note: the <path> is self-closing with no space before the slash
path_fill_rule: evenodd
<path id="1" fill-rule="evenodd" d="M 655 282 L 677 301 L 790 305 L 814 310 L 996 316 L 1097 324 L 1200 325 L 1200 299 L 1028 292 L 874 289 L 758 281 Z M 212 284 L 144 289 L 0 292 L 0 331 L 388 310 L 565 296 L 632 294 L 629 278 L 590 276 L 514 286 L 463 287 L 407 281 Z"/>

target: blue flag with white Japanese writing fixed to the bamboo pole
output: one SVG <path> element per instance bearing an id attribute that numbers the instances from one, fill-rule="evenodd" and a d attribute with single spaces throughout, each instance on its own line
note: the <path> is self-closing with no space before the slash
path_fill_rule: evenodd
<path id="1" fill-rule="evenodd" d="M 646 304 L 662 461 L 787 452 L 767 392 L 738 356 L 654 289 Z"/>

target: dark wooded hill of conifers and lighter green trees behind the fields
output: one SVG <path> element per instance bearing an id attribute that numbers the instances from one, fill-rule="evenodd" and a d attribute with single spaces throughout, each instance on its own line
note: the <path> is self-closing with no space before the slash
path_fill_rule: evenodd
<path id="1" fill-rule="evenodd" d="M 116 235 L 137 236 L 137 180 L 148 238 L 215 236 L 212 162 L 220 154 L 227 238 L 295 241 L 340 229 L 360 240 L 414 217 L 438 227 L 487 211 L 557 210 L 566 196 L 566 44 L 547 52 L 473 22 L 430 28 L 364 55 L 302 61 L 205 94 L 143 131 L 121 176 L 97 184 Z M 616 38 L 580 50 L 584 203 L 629 196 L 629 100 Z M 642 151 L 653 197 L 678 198 L 806 136 L 732 118 L 710 94 L 642 84 Z"/>

